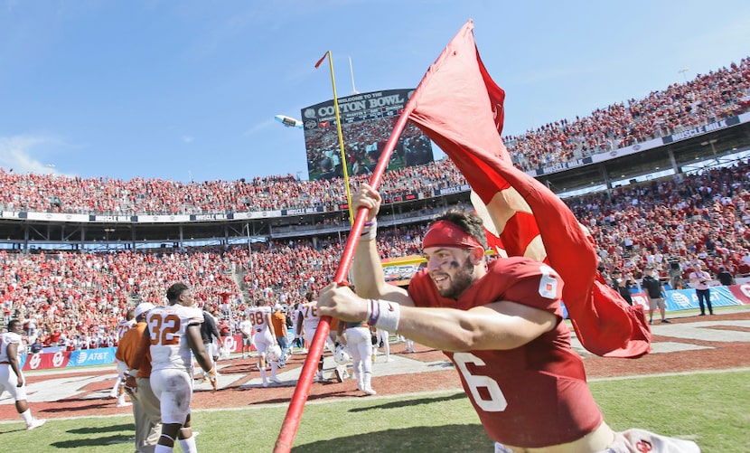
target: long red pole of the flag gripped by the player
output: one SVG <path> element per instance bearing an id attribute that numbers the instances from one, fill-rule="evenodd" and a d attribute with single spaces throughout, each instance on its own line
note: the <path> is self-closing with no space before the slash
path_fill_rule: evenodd
<path id="1" fill-rule="evenodd" d="M 417 87 L 419 90 L 419 87 Z M 385 173 L 386 167 L 390 160 L 390 155 L 393 154 L 393 149 L 396 147 L 398 137 L 404 127 L 407 126 L 408 117 L 411 111 L 414 109 L 412 106 L 412 99 L 416 98 L 417 90 L 409 99 L 404 112 L 401 113 L 401 117 L 398 118 L 398 122 L 393 127 L 393 132 L 390 133 L 388 142 L 383 149 L 378 165 L 375 166 L 375 170 L 372 172 L 370 178 L 370 186 L 373 189 L 377 189 L 380 185 L 380 179 Z M 350 212 L 351 212 L 350 206 Z M 364 222 L 367 218 L 367 209 L 361 209 L 357 212 L 354 224 L 352 225 L 352 231 L 349 232 L 349 238 L 346 241 L 346 246 L 342 252 L 342 260 L 339 263 L 339 269 L 336 270 L 336 275 L 333 277 L 333 281 L 336 284 L 341 285 L 346 281 L 346 275 L 349 273 L 349 268 L 352 265 L 352 259 L 354 256 L 354 250 L 357 247 L 357 242 L 360 239 L 362 229 L 364 228 Z M 295 388 L 295 393 L 292 395 L 292 400 L 289 402 L 289 409 L 286 410 L 286 417 L 284 423 L 281 425 L 281 430 L 278 433 L 276 446 L 274 447 L 274 453 L 288 453 L 292 449 L 292 444 L 295 440 L 295 434 L 299 427 L 299 420 L 302 417 L 302 411 L 305 409 L 305 402 L 307 396 L 310 394 L 310 387 L 313 385 L 313 375 L 317 371 L 318 361 L 323 354 L 323 345 L 325 344 L 325 337 L 331 330 L 331 316 L 322 316 L 320 318 L 320 324 L 315 332 L 313 343 L 310 344 L 310 349 L 307 352 L 307 358 L 305 364 L 302 366 L 302 372 L 299 375 L 299 381 Z"/>

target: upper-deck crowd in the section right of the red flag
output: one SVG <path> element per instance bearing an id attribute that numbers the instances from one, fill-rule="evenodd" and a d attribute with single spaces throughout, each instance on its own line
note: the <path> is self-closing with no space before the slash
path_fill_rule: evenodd
<path id="1" fill-rule="evenodd" d="M 562 119 L 504 141 L 513 162 L 524 170 L 556 165 L 739 115 L 750 104 L 748 90 L 750 57 L 652 91 L 644 99 L 628 99 L 588 117 Z"/>

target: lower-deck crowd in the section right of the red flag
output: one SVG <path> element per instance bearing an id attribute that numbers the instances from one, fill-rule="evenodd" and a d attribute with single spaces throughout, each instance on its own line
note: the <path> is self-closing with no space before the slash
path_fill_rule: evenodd
<path id="1" fill-rule="evenodd" d="M 750 274 L 750 165 L 708 169 L 614 189 L 611 199 L 568 200 L 592 232 L 606 271 L 642 272 L 651 264 L 669 276 L 668 259 L 683 278 L 705 262 L 715 275 Z"/>

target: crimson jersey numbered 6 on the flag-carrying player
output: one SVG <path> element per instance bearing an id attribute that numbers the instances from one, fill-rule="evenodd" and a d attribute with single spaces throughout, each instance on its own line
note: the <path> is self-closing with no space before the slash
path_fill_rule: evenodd
<path id="1" fill-rule="evenodd" d="M 559 303 L 562 286 L 547 265 L 520 257 L 489 263 L 487 275 L 458 300 L 441 297 L 427 269 L 409 284 L 417 307 L 468 310 L 508 300 L 558 316 L 554 329 L 515 349 L 444 351 L 484 430 L 502 444 L 539 448 L 571 442 L 604 420 L 586 384 L 583 361 L 570 346 Z"/>

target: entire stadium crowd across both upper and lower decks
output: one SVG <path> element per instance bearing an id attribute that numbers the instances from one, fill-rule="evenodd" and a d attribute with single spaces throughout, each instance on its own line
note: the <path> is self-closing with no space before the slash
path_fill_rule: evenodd
<path id="1" fill-rule="evenodd" d="M 750 89 L 750 59 L 698 76 L 646 99 L 597 109 L 590 117 L 506 137 L 516 162 L 526 169 L 604 152 L 670 134 L 678 127 L 735 115 Z M 577 157 L 578 156 L 578 157 Z M 353 176 L 353 184 L 367 175 Z M 448 160 L 387 172 L 385 198 L 465 184 Z M 616 188 L 567 203 L 591 231 L 606 275 L 623 270 L 639 278 L 656 266 L 670 278 L 674 263 L 686 278 L 698 260 L 716 275 L 750 274 L 750 165 L 709 169 L 687 179 L 672 176 Z M 121 181 L 63 175 L 20 175 L 0 168 L 0 208 L 7 211 L 200 213 L 267 211 L 330 206 L 345 198 L 338 179 L 298 181 L 292 175 L 246 182 L 183 184 L 159 179 Z M 419 253 L 424 224 L 381 228 L 382 258 Z M 0 304 L 5 322 L 24 320 L 27 344 L 68 349 L 115 343 L 115 326 L 137 302 L 163 303 L 173 281 L 191 285 L 199 302 L 239 323 L 239 313 L 257 300 L 294 304 L 305 292 L 331 281 L 342 251 L 339 236 L 296 238 L 247 247 L 186 251 L 39 252 L 0 250 Z M 681 285 L 680 279 L 671 279 Z M 236 326 L 233 326 L 236 331 Z"/>

